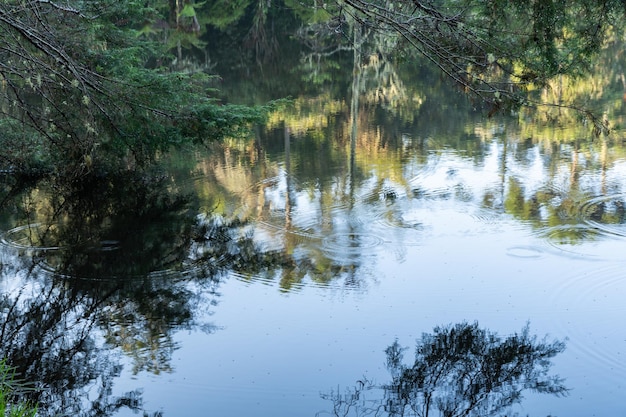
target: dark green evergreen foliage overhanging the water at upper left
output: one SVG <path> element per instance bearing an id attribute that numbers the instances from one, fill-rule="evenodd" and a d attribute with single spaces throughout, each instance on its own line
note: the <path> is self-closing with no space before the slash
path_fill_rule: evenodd
<path id="1" fill-rule="evenodd" d="M 172 70 L 168 42 L 145 28 L 178 25 L 171 38 L 196 26 L 181 20 L 194 17 L 188 7 L 168 23 L 163 5 L 0 4 L 0 168 L 80 176 L 141 166 L 172 145 L 221 139 L 262 120 L 263 109 L 212 98 L 206 72 Z"/>

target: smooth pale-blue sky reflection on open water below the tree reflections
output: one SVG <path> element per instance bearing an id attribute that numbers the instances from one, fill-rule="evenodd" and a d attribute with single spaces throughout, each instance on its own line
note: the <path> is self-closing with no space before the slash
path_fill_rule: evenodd
<path id="1" fill-rule="evenodd" d="M 466 228 L 480 229 L 474 223 Z M 593 415 L 598 404 L 603 415 L 626 411 L 623 262 L 559 253 L 512 223 L 472 234 L 433 227 L 441 233 L 408 248 L 401 262 L 392 245 L 381 246 L 367 265 L 377 278 L 368 291 L 282 294 L 276 284 L 228 280 L 212 316 L 223 329 L 179 333 L 175 373 L 125 385 L 143 386 L 147 409 L 163 406 L 166 416 L 314 416 L 331 406 L 320 392 L 364 376 L 385 382 L 383 350 L 394 338 L 411 347 L 440 324 L 478 320 L 508 334 L 530 321 L 533 333 L 569 338 L 554 371 L 574 391 L 564 399 L 531 395 L 524 415 Z"/>

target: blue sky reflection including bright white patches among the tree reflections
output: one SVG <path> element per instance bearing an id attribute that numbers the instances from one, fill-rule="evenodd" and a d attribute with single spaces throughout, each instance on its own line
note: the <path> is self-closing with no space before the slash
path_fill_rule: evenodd
<path id="1" fill-rule="evenodd" d="M 305 281 L 284 293 L 278 282 L 233 276 L 221 285 L 211 316 L 220 330 L 179 332 L 174 373 L 139 374 L 118 389 L 143 387 L 146 409 L 162 409 L 165 416 L 181 410 L 314 416 L 332 407 L 320 393 L 342 391 L 364 377 L 388 381 L 383 351 L 395 338 L 409 347 L 409 360 L 415 340 L 437 325 L 477 320 L 504 335 L 530 322 L 531 333 L 568 339 L 554 372 L 566 378 L 572 393 L 529 393 L 518 410 L 522 415 L 624 415 L 626 334 L 619 323 L 626 313 L 626 242 L 604 237 L 559 245 L 502 211 L 485 214 L 482 195 L 503 184 L 501 152 L 494 143 L 480 165 L 450 151 L 408 167 L 408 190 L 382 182 L 396 191 L 392 200 L 378 193 L 374 176 L 359 184 L 353 201 L 341 199 L 337 179 L 333 203 L 325 209 L 323 190 L 292 188 L 292 227 L 322 231 L 328 210 L 328 230 L 337 235 L 300 240 L 304 253 L 307 245 L 327 245 L 331 259 L 356 253 L 356 279 L 365 285 L 338 281 L 323 288 Z M 545 185 L 546 167 L 536 148 L 525 161 L 510 156 L 506 176 L 529 193 Z M 609 173 L 623 179 L 624 164 Z M 597 180 L 595 174 L 585 178 Z M 421 194 L 414 196 L 415 189 Z M 285 173 L 264 193 L 273 215 L 257 232 L 267 239 L 276 230 L 289 234 Z M 351 252 L 341 246 L 342 233 L 350 231 L 374 244 Z M 369 235 L 379 239 L 365 239 Z"/>

